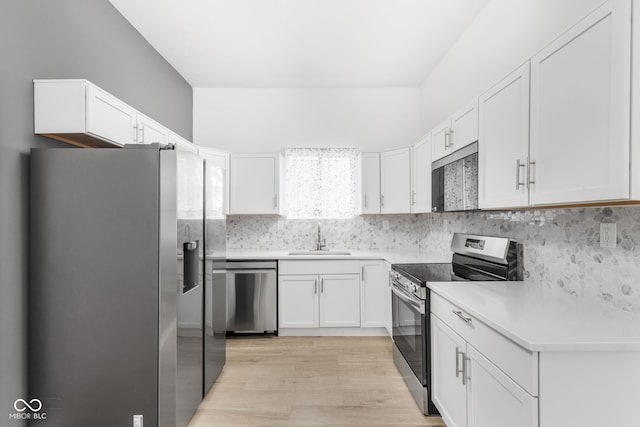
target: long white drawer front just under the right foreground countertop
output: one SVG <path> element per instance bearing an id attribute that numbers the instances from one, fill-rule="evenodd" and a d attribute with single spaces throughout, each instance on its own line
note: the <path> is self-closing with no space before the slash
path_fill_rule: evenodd
<path id="1" fill-rule="evenodd" d="M 532 396 L 538 395 L 538 353 L 525 350 L 433 292 L 431 292 L 431 313 L 502 369 Z"/>

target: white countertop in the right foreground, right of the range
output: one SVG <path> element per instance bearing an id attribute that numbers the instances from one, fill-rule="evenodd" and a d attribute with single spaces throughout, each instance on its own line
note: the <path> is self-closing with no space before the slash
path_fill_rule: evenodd
<path id="1" fill-rule="evenodd" d="M 529 282 L 440 282 L 431 290 L 529 351 L 640 351 L 640 317 Z"/>

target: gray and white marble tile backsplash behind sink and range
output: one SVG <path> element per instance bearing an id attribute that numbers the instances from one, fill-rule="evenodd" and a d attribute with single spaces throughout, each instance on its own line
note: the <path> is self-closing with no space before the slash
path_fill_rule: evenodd
<path id="1" fill-rule="evenodd" d="M 616 248 L 600 247 L 601 222 L 617 224 Z M 640 314 L 640 207 L 363 215 L 319 221 L 229 216 L 227 247 L 311 249 L 318 223 L 332 249 L 420 250 L 432 260 L 450 259 L 456 231 L 514 238 L 523 244 L 526 279 Z"/>

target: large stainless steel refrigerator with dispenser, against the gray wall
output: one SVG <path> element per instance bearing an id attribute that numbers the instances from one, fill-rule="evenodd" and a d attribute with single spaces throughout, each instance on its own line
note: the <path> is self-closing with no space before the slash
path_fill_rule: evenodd
<path id="1" fill-rule="evenodd" d="M 32 150 L 28 377 L 44 425 L 188 423 L 213 362 L 205 308 L 225 298 L 203 283 L 207 256 L 224 257 L 206 179 L 187 145 Z"/>

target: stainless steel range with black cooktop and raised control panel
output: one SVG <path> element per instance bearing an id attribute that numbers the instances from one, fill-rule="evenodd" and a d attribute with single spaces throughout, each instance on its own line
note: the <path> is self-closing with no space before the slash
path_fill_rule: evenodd
<path id="1" fill-rule="evenodd" d="M 455 233 L 451 250 L 451 263 L 391 266 L 394 361 L 425 415 L 438 415 L 429 393 L 431 342 L 427 284 L 521 279 L 515 240 Z"/>

